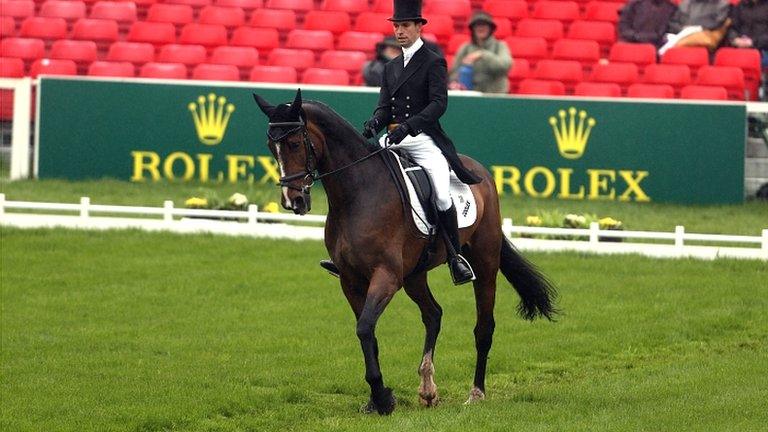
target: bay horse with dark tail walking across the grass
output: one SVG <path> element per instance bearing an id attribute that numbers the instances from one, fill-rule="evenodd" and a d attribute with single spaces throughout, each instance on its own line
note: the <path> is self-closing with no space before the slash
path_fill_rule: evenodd
<path id="1" fill-rule="evenodd" d="M 268 146 L 277 160 L 282 205 L 304 215 L 311 209 L 310 188 L 321 179 L 328 197 L 325 246 L 338 266 L 341 288 L 357 319 L 357 337 L 365 360 L 365 380 L 371 394 L 364 412 L 390 414 L 395 408 L 392 390 L 384 385 L 379 367 L 376 323 L 401 287 L 421 311 L 426 329 L 418 369 L 420 403 L 438 402 L 434 381 L 434 354 L 442 309 L 427 284 L 427 271 L 446 260 L 445 247 L 425 270 L 417 265 L 427 240 L 419 235 L 410 211 L 391 180 L 380 147 L 370 144 L 344 118 L 327 105 L 301 99 L 297 91 L 290 104 L 272 106 L 254 94 L 269 118 Z M 472 185 L 477 220 L 460 230 L 462 251 L 472 265 L 477 304 L 474 328 L 477 360 L 468 403 L 485 398 L 485 371 L 494 330 L 493 309 L 499 270 L 521 297 L 520 315 L 552 320 L 556 313 L 553 286 L 529 263 L 501 231 L 496 188 L 488 171 L 462 156 L 466 167 L 483 179 Z M 423 266 L 420 266 L 423 268 Z M 414 269 L 416 271 L 414 272 Z"/>

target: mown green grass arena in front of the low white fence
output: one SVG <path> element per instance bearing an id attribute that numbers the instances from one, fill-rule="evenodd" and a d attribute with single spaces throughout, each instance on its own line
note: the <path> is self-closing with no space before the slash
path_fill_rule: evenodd
<path id="1" fill-rule="evenodd" d="M 44 198 L 23 187 L 7 193 Z M 3 431 L 768 424 L 765 262 L 529 255 L 560 287 L 564 314 L 556 323 L 519 319 L 517 296 L 500 280 L 488 399 L 474 406 L 462 405 L 473 296 L 440 269 L 431 285 L 445 310 L 436 356 L 443 402 L 418 406 L 423 328 L 399 293 L 377 331 L 399 403 L 379 417 L 356 411 L 368 392 L 362 355 L 337 280 L 316 266 L 320 242 L 3 228 L 1 245 Z"/>

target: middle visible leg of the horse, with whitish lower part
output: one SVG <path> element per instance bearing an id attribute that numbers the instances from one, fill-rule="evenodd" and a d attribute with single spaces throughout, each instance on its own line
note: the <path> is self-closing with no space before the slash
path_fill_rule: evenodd
<path id="1" fill-rule="evenodd" d="M 419 402 L 427 407 L 437 405 L 437 385 L 435 385 L 434 354 L 437 335 L 440 333 L 440 320 L 443 310 L 432 296 L 427 285 L 427 274 L 421 273 L 405 281 L 405 292 L 421 310 L 421 321 L 424 323 L 424 353 L 419 365 Z"/>

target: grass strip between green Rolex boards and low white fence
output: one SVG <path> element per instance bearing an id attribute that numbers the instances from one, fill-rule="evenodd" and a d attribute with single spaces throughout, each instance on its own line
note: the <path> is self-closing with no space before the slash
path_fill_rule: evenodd
<path id="1" fill-rule="evenodd" d="M 251 202 L 264 205 L 280 199 L 280 191 L 271 185 L 199 184 L 199 183 L 129 183 L 117 180 L 65 181 L 25 180 L 0 182 L 0 191 L 8 200 L 78 202 L 88 196 L 94 204 L 148 205 L 160 207 L 172 200 L 177 207 L 192 196 L 226 200 L 235 192 L 244 193 Z M 312 213 L 325 214 L 327 202 L 321 187 L 312 190 Z M 661 203 L 617 203 L 609 201 L 557 201 L 529 197 L 501 198 L 504 217 L 524 224 L 526 216 L 538 212 L 589 213 L 610 216 L 624 223 L 626 229 L 674 231 L 684 225 L 687 232 L 741 234 L 758 236 L 768 228 L 768 202 L 748 201 L 739 205 L 681 206 Z"/>

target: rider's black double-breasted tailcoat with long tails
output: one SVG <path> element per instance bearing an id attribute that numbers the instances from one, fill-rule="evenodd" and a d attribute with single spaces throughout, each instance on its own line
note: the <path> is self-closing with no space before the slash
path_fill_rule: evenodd
<path id="1" fill-rule="evenodd" d="M 440 126 L 440 117 L 448 107 L 448 71 L 445 59 L 422 46 L 407 67 L 402 54 L 384 66 L 379 105 L 373 113 L 382 127 L 391 123 L 407 123 L 410 134 L 429 135 L 448 164 L 467 184 L 482 179 L 467 169 L 459 159 L 453 142 Z"/>

